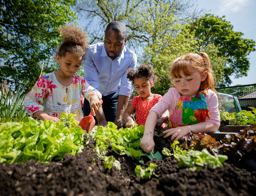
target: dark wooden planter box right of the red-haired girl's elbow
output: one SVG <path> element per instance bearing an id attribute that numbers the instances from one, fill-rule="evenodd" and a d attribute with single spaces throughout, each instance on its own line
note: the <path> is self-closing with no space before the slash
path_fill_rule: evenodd
<path id="1" fill-rule="evenodd" d="M 214 137 L 217 141 L 220 141 L 225 137 L 226 134 L 235 134 L 239 133 L 240 130 L 243 130 L 247 126 L 237 126 L 237 125 L 228 125 L 228 126 L 220 126 L 219 131 L 220 132 L 209 132 L 207 134 Z"/>

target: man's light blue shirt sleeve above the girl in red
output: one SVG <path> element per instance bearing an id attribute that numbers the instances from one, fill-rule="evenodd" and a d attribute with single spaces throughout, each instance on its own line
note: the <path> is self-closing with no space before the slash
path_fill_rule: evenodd
<path id="1" fill-rule="evenodd" d="M 129 67 L 127 69 L 133 68 L 135 69 L 137 64 L 137 56 L 136 54 L 134 54 L 134 57 L 129 65 Z M 121 83 L 120 85 L 117 87 L 116 92 L 118 94 L 122 94 L 125 96 L 131 96 L 131 94 L 133 93 L 133 88 L 132 88 L 132 81 L 130 81 L 127 78 L 127 69 L 126 71 L 124 71 L 124 73 L 122 74 L 122 78 L 121 78 Z"/>

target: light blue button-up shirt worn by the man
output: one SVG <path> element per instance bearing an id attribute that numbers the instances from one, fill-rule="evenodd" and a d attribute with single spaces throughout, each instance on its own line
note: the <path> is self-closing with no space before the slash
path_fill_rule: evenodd
<path id="1" fill-rule="evenodd" d="M 131 96 L 132 82 L 127 79 L 126 70 L 135 69 L 136 63 L 136 54 L 126 46 L 113 60 L 107 56 L 103 42 L 92 44 L 83 58 L 84 78 L 103 96 L 113 92 Z"/>

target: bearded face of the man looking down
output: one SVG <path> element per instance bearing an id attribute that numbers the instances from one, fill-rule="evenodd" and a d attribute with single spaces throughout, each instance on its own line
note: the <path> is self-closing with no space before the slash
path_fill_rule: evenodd
<path id="1" fill-rule="evenodd" d="M 123 39 L 118 31 L 111 28 L 105 31 L 104 45 L 108 57 L 115 59 L 121 53 L 126 40 L 127 38 Z"/>

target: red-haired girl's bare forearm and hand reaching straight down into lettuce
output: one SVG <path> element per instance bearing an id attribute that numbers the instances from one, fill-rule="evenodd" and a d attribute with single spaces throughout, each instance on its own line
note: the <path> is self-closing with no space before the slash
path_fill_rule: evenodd
<path id="1" fill-rule="evenodd" d="M 145 123 L 145 130 L 140 142 L 141 148 L 149 153 L 152 151 L 154 153 L 154 130 L 157 123 L 158 114 L 155 111 L 150 111 L 146 123 Z"/>

